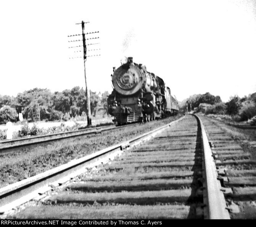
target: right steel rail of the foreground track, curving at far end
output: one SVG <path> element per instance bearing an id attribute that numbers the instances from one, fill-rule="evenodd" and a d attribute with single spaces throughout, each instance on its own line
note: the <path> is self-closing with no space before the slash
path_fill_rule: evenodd
<path id="1" fill-rule="evenodd" d="M 204 178 L 204 218 L 205 219 L 230 219 L 226 209 L 226 201 L 221 191 L 220 181 L 217 180 L 217 169 L 212 157 L 212 150 L 206 135 L 202 120 L 196 114 L 195 116 L 201 127 L 202 149 L 203 149 L 203 178 Z"/>

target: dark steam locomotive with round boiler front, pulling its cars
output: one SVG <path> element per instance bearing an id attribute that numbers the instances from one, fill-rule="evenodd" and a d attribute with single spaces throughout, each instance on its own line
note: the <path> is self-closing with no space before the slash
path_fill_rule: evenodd
<path id="1" fill-rule="evenodd" d="M 153 121 L 179 111 L 178 101 L 159 76 L 148 72 L 133 57 L 113 67 L 113 91 L 107 99 L 108 112 L 117 125 Z"/>

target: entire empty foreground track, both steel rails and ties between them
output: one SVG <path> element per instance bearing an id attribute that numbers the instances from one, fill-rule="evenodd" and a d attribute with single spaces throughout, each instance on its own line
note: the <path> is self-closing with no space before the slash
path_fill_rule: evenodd
<path id="1" fill-rule="evenodd" d="M 228 219 L 210 152 L 201 120 L 186 115 L 125 143 L 0 188 L 0 212 L 8 215 L 6 211 L 33 199 L 14 217 Z"/>

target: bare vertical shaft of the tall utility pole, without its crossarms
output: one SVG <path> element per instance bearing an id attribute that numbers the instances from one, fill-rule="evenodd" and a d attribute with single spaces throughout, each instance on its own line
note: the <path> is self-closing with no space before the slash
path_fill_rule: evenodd
<path id="1" fill-rule="evenodd" d="M 90 90 L 88 89 L 88 81 L 86 78 L 86 43 L 85 43 L 85 32 L 84 32 L 84 21 L 82 21 L 82 35 L 83 35 L 83 47 L 84 47 L 84 79 L 86 87 L 86 101 L 87 101 L 87 126 L 92 125 L 92 116 L 91 116 L 91 101 L 90 101 Z"/>

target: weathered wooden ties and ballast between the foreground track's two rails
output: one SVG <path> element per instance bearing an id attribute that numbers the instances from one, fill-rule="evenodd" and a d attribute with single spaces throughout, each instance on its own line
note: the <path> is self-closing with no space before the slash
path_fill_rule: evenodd
<path id="1" fill-rule="evenodd" d="M 187 115 L 8 218 L 203 218 L 201 155 L 199 121 Z"/>

